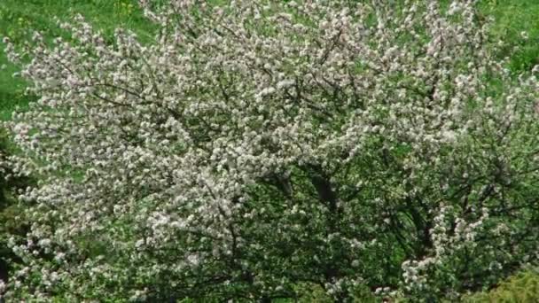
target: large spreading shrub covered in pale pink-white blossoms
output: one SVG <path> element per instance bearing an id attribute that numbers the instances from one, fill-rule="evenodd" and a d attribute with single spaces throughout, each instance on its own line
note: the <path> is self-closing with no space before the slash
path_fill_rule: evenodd
<path id="1" fill-rule="evenodd" d="M 474 1 L 389 3 L 143 1 L 149 45 L 35 34 L 6 298 L 457 299 L 535 264 L 539 68 L 506 68 Z"/>

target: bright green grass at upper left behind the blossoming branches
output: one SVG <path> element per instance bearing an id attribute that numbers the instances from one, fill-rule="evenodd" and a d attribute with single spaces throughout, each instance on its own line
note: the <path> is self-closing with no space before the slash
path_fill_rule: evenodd
<path id="1" fill-rule="evenodd" d="M 133 29 L 143 39 L 152 36 L 153 25 L 144 18 L 137 0 L 0 0 L 0 36 L 20 45 L 30 38 L 32 30 L 46 37 L 65 35 L 54 17 L 69 20 L 81 13 L 106 36 L 115 27 Z M 9 120 L 16 107 L 26 107 L 35 99 L 24 95 L 26 83 L 12 75 L 18 66 L 7 61 L 4 44 L 0 43 L 0 120 Z"/>

